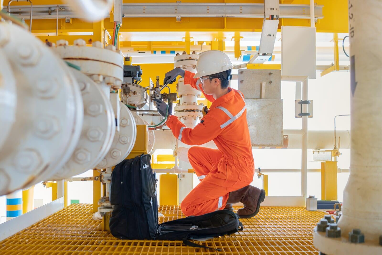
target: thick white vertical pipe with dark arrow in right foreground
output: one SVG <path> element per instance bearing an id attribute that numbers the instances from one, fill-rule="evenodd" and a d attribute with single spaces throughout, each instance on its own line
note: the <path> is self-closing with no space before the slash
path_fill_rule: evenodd
<path id="1" fill-rule="evenodd" d="M 381 13 L 380 0 L 349 1 L 351 157 L 338 224 L 372 244 L 382 235 Z"/>

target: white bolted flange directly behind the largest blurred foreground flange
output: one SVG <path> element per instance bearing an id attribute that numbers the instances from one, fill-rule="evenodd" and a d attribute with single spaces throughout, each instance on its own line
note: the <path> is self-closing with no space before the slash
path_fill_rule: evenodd
<path id="1" fill-rule="evenodd" d="M 82 174 L 96 166 L 104 158 L 115 130 L 114 113 L 105 94 L 91 78 L 74 69 L 72 72 L 82 93 L 84 121 L 76 149 L 53 180 Z"/>

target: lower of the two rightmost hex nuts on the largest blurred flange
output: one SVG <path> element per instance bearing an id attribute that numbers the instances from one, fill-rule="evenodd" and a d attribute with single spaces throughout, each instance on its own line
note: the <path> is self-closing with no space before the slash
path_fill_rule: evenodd
<path id="1" fill-rule="evenodd" d="M 33 122 L 33 127 L 35 135 L 49 139 L 60 131 L 60 122 L 54 116 L 43 115 Z"/>

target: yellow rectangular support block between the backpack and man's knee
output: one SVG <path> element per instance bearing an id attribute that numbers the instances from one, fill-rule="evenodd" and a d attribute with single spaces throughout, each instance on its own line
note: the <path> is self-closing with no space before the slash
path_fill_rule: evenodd
<path id="1" fill-rule="evenodd" d="M 159 205 L 179 205 L 177 174 L 159 175 Z"/>

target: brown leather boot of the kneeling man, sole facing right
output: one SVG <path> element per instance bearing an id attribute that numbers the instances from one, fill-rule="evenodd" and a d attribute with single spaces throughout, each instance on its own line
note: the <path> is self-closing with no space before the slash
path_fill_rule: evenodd
<path id="1" fill-rule="evenodd" d="M 252 218 L 260 209 L 260 203 L 264 201 L 265 190 L 248 185 L 228 195 L 227 204 L 241 202 L 244 208 L 238 210 L 240 218 Z"/>

